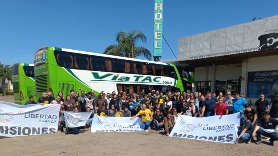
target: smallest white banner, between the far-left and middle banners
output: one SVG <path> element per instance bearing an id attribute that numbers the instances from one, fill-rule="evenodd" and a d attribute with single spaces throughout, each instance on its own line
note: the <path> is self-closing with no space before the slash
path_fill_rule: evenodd
<path id="1" fill-rule="evenodd" d="M 85 126 L 92 112 L 66 112 L 64 111 L 67 127 L 74 128 Z"/>

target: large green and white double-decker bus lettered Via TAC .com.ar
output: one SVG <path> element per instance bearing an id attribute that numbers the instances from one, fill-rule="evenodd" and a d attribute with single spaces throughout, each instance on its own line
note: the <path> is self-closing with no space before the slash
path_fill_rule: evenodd
<path id="1" fill-rule="evenodd" d="M 34 56 L 37 95 L 59 91 L 64 95 L 73 89 L 111 93 L 133 89 L 192 91 L 189 72 L 174 64 L 117 57 L 72 49 L 46 47 Z M 80 92 L 80 91 L 79 91 Z"/>

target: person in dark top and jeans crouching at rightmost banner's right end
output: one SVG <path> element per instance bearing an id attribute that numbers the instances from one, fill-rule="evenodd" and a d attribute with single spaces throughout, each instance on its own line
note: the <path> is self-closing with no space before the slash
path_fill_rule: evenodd
<path id="1" fill-rule="evenodd" d="M 244 127 L 243 130 L 242 130 L 242 128 L 238 129 L 237 140 L 238 141 L 247 140 L 246 143 L 249 144 L 251 142 L 251 133 L 254 130 L 253 124 L 250 121 L 251 114 L 250 113 L 246 113 L 244 119 L 246 121 L 245 127 Z"/>

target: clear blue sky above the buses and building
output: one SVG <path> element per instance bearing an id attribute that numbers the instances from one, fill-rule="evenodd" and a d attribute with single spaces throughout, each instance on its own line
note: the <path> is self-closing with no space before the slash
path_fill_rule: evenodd
<path id="1" fill-rule="evenodd" d="M 164 0 L 163 35 L 178 57 L 178 38 L 277 15 L 277 0 Z M 141 30 L 153 52 L 154 0 L 0 0 L 0 62 L 32 63 L 55 46 L 103 53 L 116 33 Z M 174 59 L 162 42 L 161 60 Z"/>

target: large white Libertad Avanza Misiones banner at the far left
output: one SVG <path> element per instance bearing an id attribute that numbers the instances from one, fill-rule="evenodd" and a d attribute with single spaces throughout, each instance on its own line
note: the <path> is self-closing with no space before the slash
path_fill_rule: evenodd
<path id="1" fill-rule="evenodd" d="M 18 105 L 0 101 L 0 136 L 18 137 L 57 132 L 59 110 L 58 104 Z"/>

